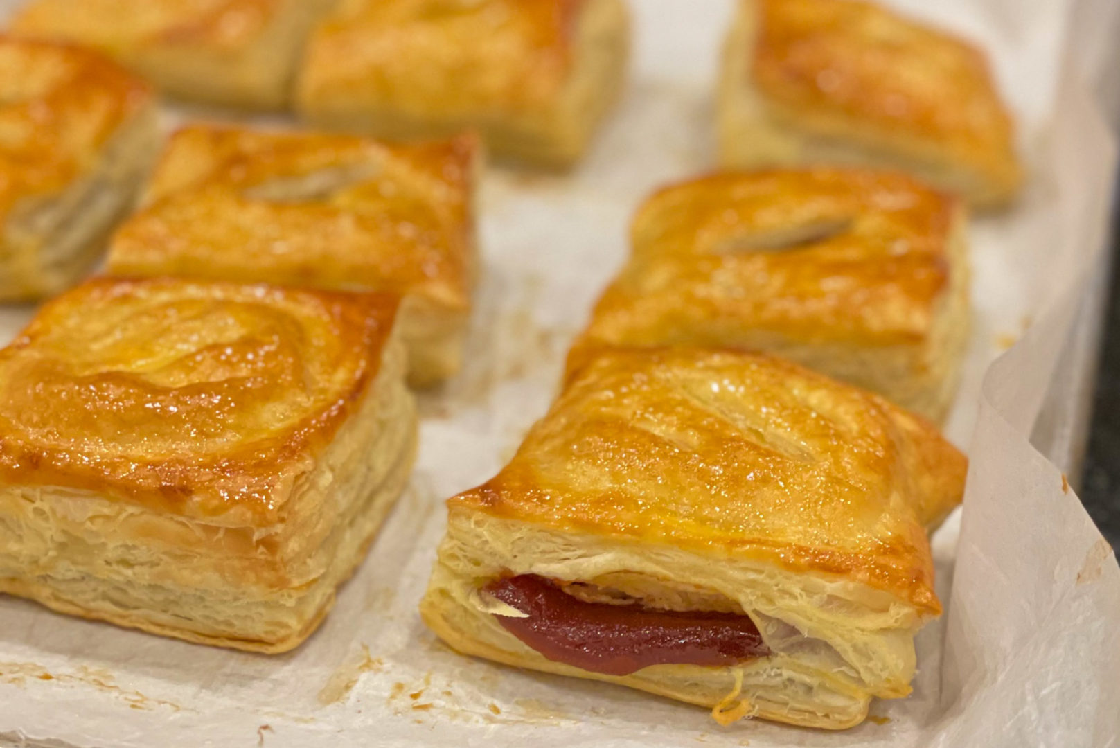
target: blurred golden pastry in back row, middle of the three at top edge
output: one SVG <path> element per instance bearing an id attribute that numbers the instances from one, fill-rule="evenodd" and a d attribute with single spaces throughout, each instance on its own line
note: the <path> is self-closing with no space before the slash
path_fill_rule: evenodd
<path id="1" fill-rule="evenodd" d="M 342 0 L 297 105 L 381 137 L 475 129 L 497 156 L 562 167 L 618 97 L 628 44 L 623 0 Z"/>

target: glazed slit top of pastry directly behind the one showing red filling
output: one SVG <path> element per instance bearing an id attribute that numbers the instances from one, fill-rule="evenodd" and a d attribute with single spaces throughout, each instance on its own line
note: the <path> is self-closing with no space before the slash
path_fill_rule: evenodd
<path id="1" fill-rule="evenodd" d="M 653 195 L 585 342 L 650 345 L 762 330 L 889 345 L 930 334 L 958 202 L 861 169 L 730 172 Z"/>

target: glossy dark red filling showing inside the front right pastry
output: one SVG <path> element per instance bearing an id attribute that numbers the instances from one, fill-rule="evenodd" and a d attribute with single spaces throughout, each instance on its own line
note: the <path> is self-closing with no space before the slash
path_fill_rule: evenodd
<path id="1" fill-rule="evenodd" d="M 535 574 L 506 577 L 483 590 L 528 614 L 498 623 L 553 662 L 628 675 L 648 665 L 734 665 L 769 654 L 749 617 L 680 613 L 641 605 L 585 602 Z"/>

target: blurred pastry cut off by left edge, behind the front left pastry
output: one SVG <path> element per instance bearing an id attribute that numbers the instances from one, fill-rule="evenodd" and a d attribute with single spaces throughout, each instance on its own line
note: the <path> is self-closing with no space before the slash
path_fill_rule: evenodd
<path id="1" fill-rule="evenodd" d="M 85 49 L 0 35 L 0 300 L 73 284 L 156 151 L 142 81 Z"/>

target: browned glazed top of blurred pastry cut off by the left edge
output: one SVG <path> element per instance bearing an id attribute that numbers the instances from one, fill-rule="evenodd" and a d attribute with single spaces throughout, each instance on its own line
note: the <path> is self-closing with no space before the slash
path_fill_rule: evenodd
<path id="1" fill-rule="evenodd" d="M 101 55 L 0 35 L 0 226 L 21 199 L 55 194 L 91 169 L 151 97 Z"/>

